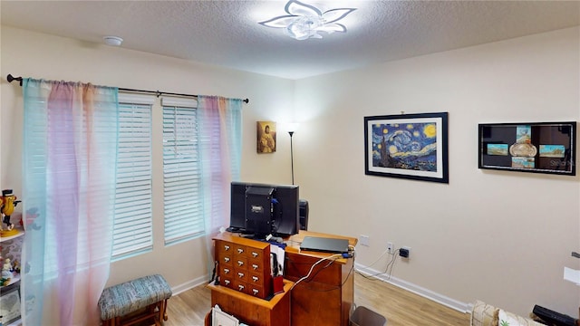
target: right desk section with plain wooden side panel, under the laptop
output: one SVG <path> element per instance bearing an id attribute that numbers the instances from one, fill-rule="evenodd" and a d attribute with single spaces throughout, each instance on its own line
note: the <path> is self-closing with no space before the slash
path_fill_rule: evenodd
<path id="1" fill-rule="evenodd" d="M 313 264 L 332 254 L 300 250 L 304 236 L 357 239 L 301 230 L 286 240 L 285 279 L 296 282 L 304 277 Z M 354 302 L 354 259 L 341 258 L 318 264 L 313 273 L 292 289 L 292 326 L 348 326 Z"/>

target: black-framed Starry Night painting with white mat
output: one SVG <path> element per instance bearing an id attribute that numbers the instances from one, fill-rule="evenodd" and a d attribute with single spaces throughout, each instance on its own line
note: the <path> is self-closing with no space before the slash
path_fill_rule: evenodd
<path id="1" fill-rule="evenodd" d="M 448 113 L 364 117 L 364 173 L 449 183 Z"/>

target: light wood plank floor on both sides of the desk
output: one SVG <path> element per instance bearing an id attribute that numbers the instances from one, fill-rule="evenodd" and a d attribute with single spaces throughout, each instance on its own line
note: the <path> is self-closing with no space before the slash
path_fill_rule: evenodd
<path id="1" fill-rule="evenodd" d="M 389 283 L 355 273 L 354 302 L 387 318 L 388 326 L 466 326 L 469 314 L 457 312 Z M 168 301 L 165 326 L 203 326 L 211 293 L 203 285 L 181 292 Z"/>

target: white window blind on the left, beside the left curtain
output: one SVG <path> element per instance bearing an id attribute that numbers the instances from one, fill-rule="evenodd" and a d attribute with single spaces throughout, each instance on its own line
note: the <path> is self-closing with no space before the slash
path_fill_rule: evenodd
<path id="1" fill-rule="evenodd" d="M 152 233 L 151 107 L 154 97 L 120 94 L 113 259 L 150 251 Z"/>

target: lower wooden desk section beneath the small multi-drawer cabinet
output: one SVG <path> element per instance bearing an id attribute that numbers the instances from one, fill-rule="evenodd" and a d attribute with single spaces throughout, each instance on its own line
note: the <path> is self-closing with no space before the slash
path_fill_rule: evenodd
<path id="1" fill-rule="evenodd" d="M 223 312 L 239 321 L 252 326 L 290 326 L 289 292 L 293 284 L 284 281 L 284 292 L 269 301 L 213 283 L 208 288 L 211 290 L 211 306 L 218 304 Z M 206 317 L 206 325 L 208 319 Z"/>

